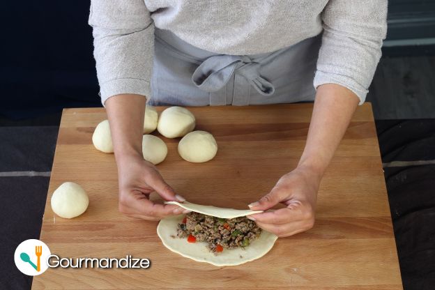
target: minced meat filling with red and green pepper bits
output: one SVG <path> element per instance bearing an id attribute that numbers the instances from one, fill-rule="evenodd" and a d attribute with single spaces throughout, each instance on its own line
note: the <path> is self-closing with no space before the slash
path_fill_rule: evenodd
<path id="1" fill-rule="evenodd" d="M 215 253 L 246 247 L 260 234 L 257 224 L 246 217 L 224 219 L 201 213 L 188 213 L 177 229 L 179 238 L 193 236 L 194 241 L 208 243 L 208 250 Z"/>

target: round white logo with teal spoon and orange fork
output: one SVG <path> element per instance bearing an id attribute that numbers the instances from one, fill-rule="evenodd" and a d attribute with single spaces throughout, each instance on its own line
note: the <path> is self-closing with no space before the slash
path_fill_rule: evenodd
<path id="1" fill-rule="evenodd" d="M 29 276 L 40 275 L 48 268 L 47 258 L 51 255 L 45 243 L 36 239 L 26 240 L 15 250 L 15 266 Z"/>

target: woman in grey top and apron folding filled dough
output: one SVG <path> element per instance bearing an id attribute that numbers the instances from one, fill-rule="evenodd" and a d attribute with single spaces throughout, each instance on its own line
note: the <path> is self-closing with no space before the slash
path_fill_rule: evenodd
<path id="1" fill-rule="evenodd" d="M 119 171 L 119 210 L 144 220 L 183 201 L 142 157 L 152 105 L 250 105 L 314 100 L 296 169 L 250 215 L 280 237 L 310 229 L 323 173 L 367 94 L 386 35 L 386 0 L 92 0 L 94 55 Z M 314 79 L 314 85 L 313 85 Z M 278 178 L 279 176 L 277 176 Z"/>

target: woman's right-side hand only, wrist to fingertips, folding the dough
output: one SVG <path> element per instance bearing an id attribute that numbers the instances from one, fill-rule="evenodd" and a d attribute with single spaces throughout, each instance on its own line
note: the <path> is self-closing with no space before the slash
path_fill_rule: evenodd
<path id="1" fill-rule="evenodd" d="M 249 205 L 254 211 L 266 211 L 278 203 L 287 207 L 247 217 L 279 237 L 307 231 L 314 226 L 314 208 L 320 181 L 320 174 L 297 167 L 282 176 L 268 194 Z"/>

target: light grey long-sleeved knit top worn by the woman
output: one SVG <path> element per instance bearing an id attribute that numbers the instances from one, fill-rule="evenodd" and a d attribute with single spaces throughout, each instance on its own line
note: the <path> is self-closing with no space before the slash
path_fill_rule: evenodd
<path id="1" fill-rule="evenodd" d="M 323 31 L 314 86 L 365 100 L 386 36 L 387 0 L 91 0 L 100 95 L 150 96 L 154 26 L 219 54 L 261 54 Z"/>

